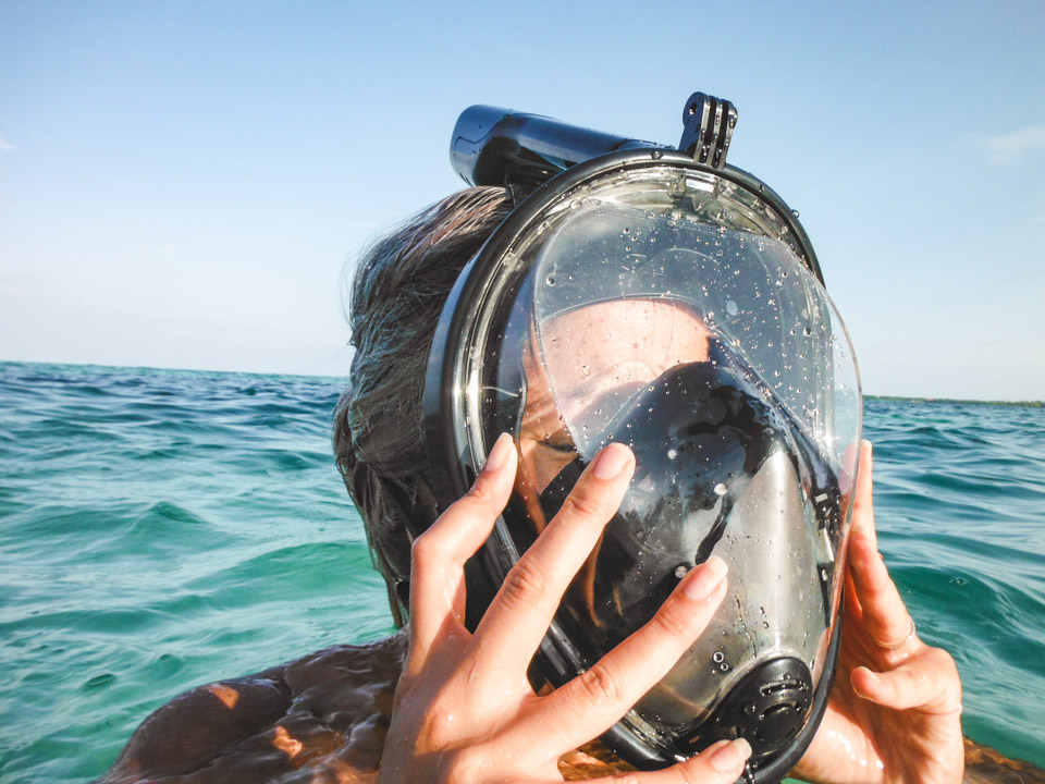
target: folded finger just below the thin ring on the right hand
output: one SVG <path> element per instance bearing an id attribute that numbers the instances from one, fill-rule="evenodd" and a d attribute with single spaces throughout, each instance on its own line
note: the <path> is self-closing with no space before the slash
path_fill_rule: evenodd
<path id="1" fill-rule="evenodd" d="M 858 695 L 886 708 L 937 714 L 961 710 L 958 669 L 941 648 L 925 647 L 919 656 L 884 673 L 856 667 L 849 681 Z"/>

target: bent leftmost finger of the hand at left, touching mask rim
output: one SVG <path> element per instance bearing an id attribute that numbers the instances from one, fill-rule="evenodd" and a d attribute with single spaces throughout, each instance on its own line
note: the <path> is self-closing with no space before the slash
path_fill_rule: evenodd
<path id="1" fill-rule="evenodd" d="M 422 659 L 448 620 L 459 622 L 464 564 L 490 536 L 512 493 L 518 455 L 502 433 L 471 490 L 414 541 L 410 553 L 410 658 Z"/>

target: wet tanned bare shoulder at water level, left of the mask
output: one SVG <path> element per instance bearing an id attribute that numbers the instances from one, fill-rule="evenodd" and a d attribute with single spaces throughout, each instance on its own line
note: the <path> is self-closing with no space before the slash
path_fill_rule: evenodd
<path id="1" fill-rule="evenodd" d="M 365 781 L 405 653 L 401 633 L 186 691 L 142 723 L 101 784 Z"/>

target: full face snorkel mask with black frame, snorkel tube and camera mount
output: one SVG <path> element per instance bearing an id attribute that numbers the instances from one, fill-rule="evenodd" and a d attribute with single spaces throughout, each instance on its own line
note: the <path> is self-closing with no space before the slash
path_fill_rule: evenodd
<path id="1" fill-rule="evenodd" d="M 472 628 L 597 452 L 631 448 L 628 493 L 531 679 L 592 666 L 718 554 L 729 589 L 714 621 L 604 740 L 649 769 L 743 736 L 748 779 L 772 782 L 831 690 L 862 403 L 797 213 L 725 162 L 736 120 L 694 94 L 676 150 L 466 110 L 458 173 L 532 192 L 446 303 L 425 427 L 437 513 L 501 432 L 519 449 L 516 492 L 467 567 Z M 431 523 L 416 517 L 415 535 Z"/>

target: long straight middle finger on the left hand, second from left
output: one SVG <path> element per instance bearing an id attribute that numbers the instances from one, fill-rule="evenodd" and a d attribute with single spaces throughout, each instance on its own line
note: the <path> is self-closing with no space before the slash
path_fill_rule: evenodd
<path id="1" fill-rule="evenodd" d="M 548 632 L 570 580 L 620 506 L 635 470 L 623 444 L 600 452 L 563 509 L 508 572 L 490 604 L 476 642 L 483 657 L 525 670 Z"/>

